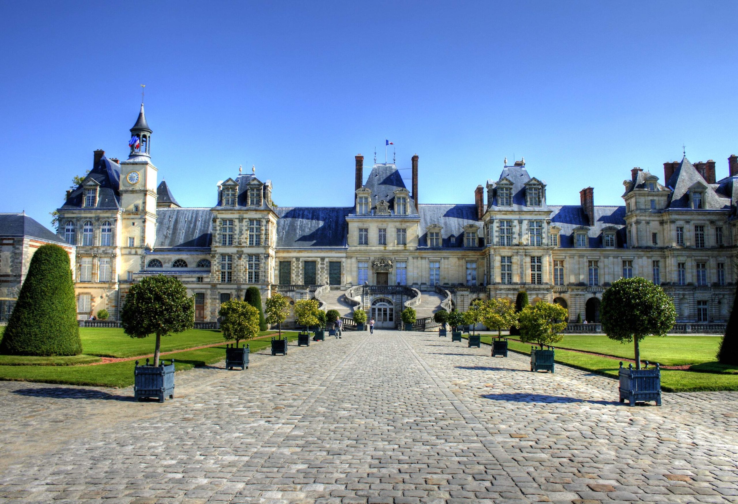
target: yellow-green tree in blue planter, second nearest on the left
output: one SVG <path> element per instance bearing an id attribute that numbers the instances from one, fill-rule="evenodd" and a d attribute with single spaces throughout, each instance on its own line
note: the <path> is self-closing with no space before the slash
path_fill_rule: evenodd
<path id="1" fill-rule="evenodd" d="M 253 339 L 259 334 L 259 311 L 246 301 L 232 299 L 221 304 L 218 310 L 221 317 L 221 331 L 226 341 L 235 339 L 233 344 L 226 345 L 226 369 L 249 367 L 249 345 L 238 346 L 241 339 Z"/>

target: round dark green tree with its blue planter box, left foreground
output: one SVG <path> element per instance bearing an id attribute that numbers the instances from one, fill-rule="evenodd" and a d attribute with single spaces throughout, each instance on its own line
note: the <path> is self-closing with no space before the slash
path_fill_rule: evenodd
<path id="1" fill-rule="evenodd" d="M 187 296 L 187 288 L 174 277 L 156 275 L 134 283 L 125 296 L 120 311 L 123 331 L 132 338 L 156 334 L 154 365 L 138 365 L 134 369 L 134 395 L 140 401 L 147 397 L 174 397 L 174 359 L 159 365 L 162 336 L 181 333 L 195 325 L 195 300 Z"/>

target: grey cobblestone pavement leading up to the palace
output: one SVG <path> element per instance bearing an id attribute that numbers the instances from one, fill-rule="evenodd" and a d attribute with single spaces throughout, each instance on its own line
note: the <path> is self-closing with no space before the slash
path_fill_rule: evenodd
<path id="1" fill-rule="evenodd" d="M 176 398 L 0 383 L 0 502 L 738 502 L 738 394 L 617 382 L 434 334 L 347 333 L 178 373 Z"/>

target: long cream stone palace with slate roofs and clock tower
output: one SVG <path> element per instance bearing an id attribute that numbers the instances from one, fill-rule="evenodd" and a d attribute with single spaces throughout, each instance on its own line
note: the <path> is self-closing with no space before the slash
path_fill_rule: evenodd
<path id="1" fill-rule="evenodd" d="M 381 298 L 389 322 L 413 288 L 449 294 L 462 310 L 474 297 L 525 290 L 572 320 L 596 321 L 602 292 L 630 276 L 663 286 L 679 322 L 723 322 L 731 309 L 737 156 L 720 180 L 711 160 L 664 163 L 663 179 L 633 168 L 623 206 L 596 205 L 592 187 L 579 205 L 550 204 L 523 159 L 470 189 L 473 204 L 424 204 L 417 155 L 410 189 L 394 163 L 375 163 L 365 178 L 358 155 L 351 207 L 277 207 L 272 182 L 239 170 L 213 187 L 213 207 L 190 208 L 158 181 L 143 106 L 131 135 L 128 159 L 94 151 L 58 209 L 58 234 L 76 246 L 80 318 L 106 308 L 117 319 L 131 283 L 157 274 L 182 280 L 202 321 L 249 286 L 292 300 L 320 286 L 352 295 L 368 286 L 362 304 Z"/>

